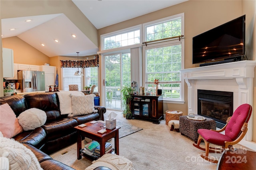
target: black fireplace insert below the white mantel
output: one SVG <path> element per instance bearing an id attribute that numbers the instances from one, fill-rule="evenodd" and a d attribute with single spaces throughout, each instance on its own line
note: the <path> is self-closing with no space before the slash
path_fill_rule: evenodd
<path id="1" fill-rule="evenodd" d="M 233 114 L 233 92 L 200 90 L 198 96 L 198 115 L 214 119 L 216 127 L 222 128 Z"/>

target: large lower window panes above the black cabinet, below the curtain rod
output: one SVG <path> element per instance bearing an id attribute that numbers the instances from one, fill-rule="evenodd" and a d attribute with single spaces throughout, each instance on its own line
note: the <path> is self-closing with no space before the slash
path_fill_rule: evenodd
<path id="1" fill-rule="evenodd" d="M 154 80 L 159 79 L 159 89 L 165 99 L 181 100 L 181 77 L 182 45 L 172 43 L 151 45 L 145 48 L 146 60 L 146 87 L 148 92 L 154 93 Z"/>

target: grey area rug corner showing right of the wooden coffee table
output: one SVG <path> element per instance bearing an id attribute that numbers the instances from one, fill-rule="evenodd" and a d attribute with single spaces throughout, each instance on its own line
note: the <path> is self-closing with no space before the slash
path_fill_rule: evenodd
<path id="1" fill-rule="evenodd" d="M 119 129 L 119 138 L 128 136 L 129 134 L 133 134 L 143 129 L 119 120 L 116 120 L 116 126 L 121 127 Z"/>

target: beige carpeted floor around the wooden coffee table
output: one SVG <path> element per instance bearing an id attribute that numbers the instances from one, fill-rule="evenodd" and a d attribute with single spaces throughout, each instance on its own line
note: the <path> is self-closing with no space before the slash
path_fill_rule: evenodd
<path id="1" fill-rule="evenodd" d="M 107 112 L 108 114 L 109 112 Z M 160 124 L 139 119 L 127 120 L 118 113 L 118 121 L 142 128 L 135 133 L 119 139 L 119 154 L 131 160 L 136 170 L 216 170 L 217 164 L 200 157 L 204 151 L 192 145 L 193 140 L 170 131 L 165 120 Z M 106 114 L 106 115 L 107 115 Z M 112 142 L 112 141 L 111 141 Z M 67 152 L 65 154 L 62 154 Z M 51 154 L 52 158 L 63 162 L 76 170 L 84 170 L 91 164 L 90 160 L 76 159 L 76 144 Z M 212 154 L 216 159 L 220 154 Z"/>

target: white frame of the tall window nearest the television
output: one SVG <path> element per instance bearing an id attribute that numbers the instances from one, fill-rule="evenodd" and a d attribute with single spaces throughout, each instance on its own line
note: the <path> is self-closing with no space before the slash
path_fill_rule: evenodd
<path id="1" fill-rule="evenodd" d="M 175 20 L 177 18 L 181 18 L 181 22 L 182 22 L 182 28 L 181 28 L 181 33 L 182 35 L 184 35 L 184 13 L 181 13 L 181 14 L 177 14 L 177 15 L 174 15 L 174 16 L 170 16 L 170 17 L 166 17 L 166 18 L 162 18 L 160 20 L 155 20 L 155 21 L 152 21 L 152 22 L 148 22 L 148 23 L 145 23 L 145 24 L 142 24 L 142 35 L 143 35 L 143 38 L 142 40 L 146 40 L 146 27 L 147 26 L 152 26 L 152 25 L 156 25 L 156 24 L 159 24 L 159 23 L 162 23 L 162 22 L 166 22 L 168 20 Z M 182 58 L 181 58 L 181 69 L 184 69 L 184 38 L 181 38 L 180 40 L 160 40 L 158 41 L 158 43 L 148 43 L 148 45 L 144 45 L 143 46 L 143 49 L 142 49 L 142 60 L 144 61 L 143 62 L 143 71 L 142 71 L 142 74 L 144 75 L 143 76 L 143 85 L 146 86 L 146 53 L 145 53 L 145 50 L 148 49 L 148 48 L 152 48 L 152 47 L 161 47 L 161 46 L 167 46 L 167 45 L 173 45 L 173 44 L 176 44 L 176 43 L 181 43 L 182 45 Z M 181 76 L 181 75 L 180 75 Z M 181 80 L 181 86 L 180 86 L 180 96 L 181 96 L 181 99 L 179 100 L 175 100 L 175 99 L 164 99 L 164 103 L 177 103 L 177 104 L 184 104 L 184 80 L 182 77 L 180 77 L 180 80 Z M 160 82 L 161 83 L 161 82 Z"/>

